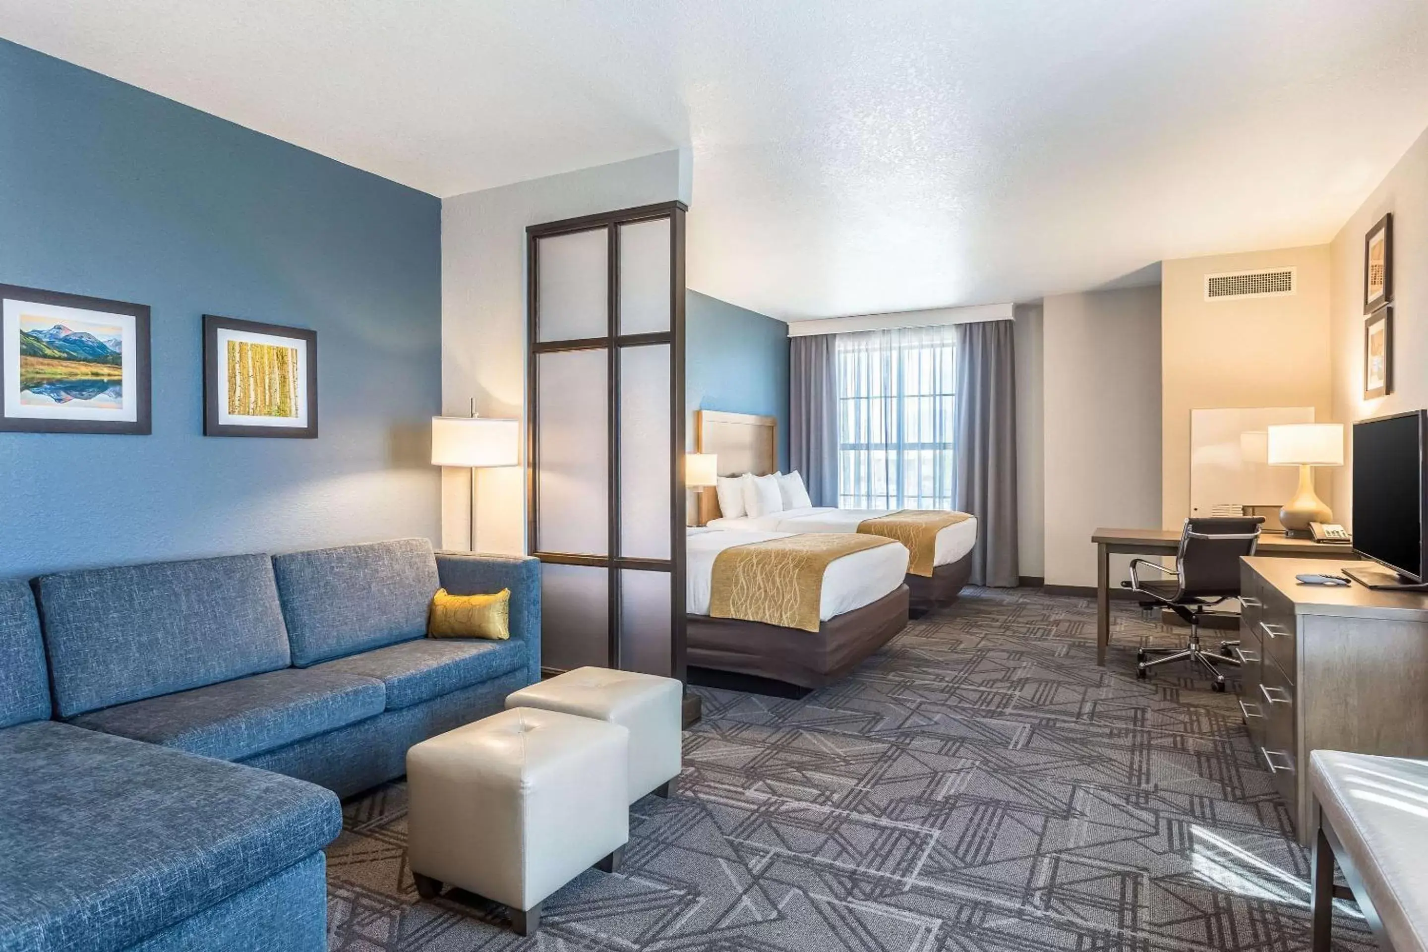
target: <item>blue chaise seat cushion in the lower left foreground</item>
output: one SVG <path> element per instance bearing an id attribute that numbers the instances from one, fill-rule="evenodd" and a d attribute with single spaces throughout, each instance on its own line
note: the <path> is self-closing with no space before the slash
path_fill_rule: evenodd
<path id="1" fill-rule="evenodd" d="M 313 784 L 53 721 L 0 731 L 0 776 L 6 949 L 124 949 L 341 831 Z"/>

